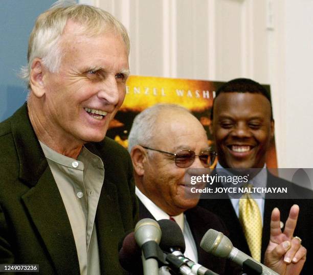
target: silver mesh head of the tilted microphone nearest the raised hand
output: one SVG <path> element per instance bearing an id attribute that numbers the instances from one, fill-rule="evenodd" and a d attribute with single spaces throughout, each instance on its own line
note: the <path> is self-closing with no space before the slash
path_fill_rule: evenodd
<path id="1" fill-rule="evenodd" d="M 231 240 L 221 232 L 209 229 L 203 236 L 200 247 L 214 256 L 227 258 L 233 249 L 233 244 Z"/>

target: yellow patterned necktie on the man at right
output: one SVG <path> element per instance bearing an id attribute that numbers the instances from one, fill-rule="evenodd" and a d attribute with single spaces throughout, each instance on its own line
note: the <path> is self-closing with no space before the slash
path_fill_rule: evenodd
<path id="1" fill-rule="evenodd" d="M 251 184 L 244 186 L 248 190 Z M 244 193 L 239 199 L 239 221 L 243 228 L 245 239 L 250 248 L 252 258 L 261 261 L 262 217 L 257 202 L 250 193 Z"/>

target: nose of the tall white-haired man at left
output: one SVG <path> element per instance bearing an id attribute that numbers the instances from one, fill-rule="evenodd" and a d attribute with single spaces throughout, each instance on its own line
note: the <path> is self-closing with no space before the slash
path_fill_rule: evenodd
<path id="1" fill-rule="evenodd" d="M 98 98 L 105 100 L 110 105 L 117 105 L 120 91 L 115 76 L 109 76 L 103 80 L 97 94 Z"/>

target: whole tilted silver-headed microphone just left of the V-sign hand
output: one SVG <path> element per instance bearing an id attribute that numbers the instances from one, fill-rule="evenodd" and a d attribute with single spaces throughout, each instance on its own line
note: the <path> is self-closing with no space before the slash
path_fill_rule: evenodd
<path id="1" fill-rule="evenodd" d="M 228 258 L 240 266 L 248 267 L 256 274 L 279 275 L 271 268 L 259 263 L 252 257 L 234 247 L 228 237 L 214 229 L 209 229 L 203 236 L 200 242 L 200 247 L 214 256 Z"/>

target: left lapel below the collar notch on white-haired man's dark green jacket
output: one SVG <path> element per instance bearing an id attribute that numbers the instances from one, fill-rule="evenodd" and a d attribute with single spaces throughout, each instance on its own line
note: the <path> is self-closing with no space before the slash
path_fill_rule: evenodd
<path id="1" fill-rule="evenodd" d="M 49 167 L 36 186 L 22 196 L 22 200 L 48 250 L 56 273 L 79 273 L 72 228 Z"/>

